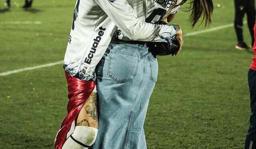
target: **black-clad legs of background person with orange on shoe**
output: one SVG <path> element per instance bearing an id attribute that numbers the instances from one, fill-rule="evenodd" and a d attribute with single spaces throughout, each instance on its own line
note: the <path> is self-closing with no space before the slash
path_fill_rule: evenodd
<path id="1" fill-rule="evenodd" d="M 254 44 L 254 23 L 256 17 L 255 11 L 255 2 L 254 0 L 234 0 L 235 1 L 235 29 L 236 36 L 238 40 L 238 44 L 236 45 L 236 49 L 245 50 L 248 48 L 246 43 L 244 43 L 243 37 L 243 18 L 244 14 L 247 15 L 248 27 L 250 30 L 250 34 L 252 37 L 251 46 Z"/>

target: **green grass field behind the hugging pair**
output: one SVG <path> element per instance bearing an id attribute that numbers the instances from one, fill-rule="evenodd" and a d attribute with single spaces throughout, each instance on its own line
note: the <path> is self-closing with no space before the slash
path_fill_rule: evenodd
<path id="1" fill-rule="evenodd" d="M 9 11 L 4 2 L 0 73 L 64 59 L 75 0 L 35 0 L 27 11 L 20 8 L 24 0 L 12 0 Z M 180 11 L 172 24 L 180 24 L 184 34 L 205 29 L 192 29 L 188 16 Z M 233 19 L 233 1 L 214 0 L 212 24 L 206 29 L 232 24 Z M 247 25 L 244 38 L 250 44 Z M 234 27 L 227 27 L 187 36 L 178 56 L 158 57 L 158 82 L 144 125 L 148 149 L 243 149 L 253 54 L 235 45 Z M 62 64 L 0 76 L 0 149 L 52 149 L 66 115 L 67 94 Z"/>

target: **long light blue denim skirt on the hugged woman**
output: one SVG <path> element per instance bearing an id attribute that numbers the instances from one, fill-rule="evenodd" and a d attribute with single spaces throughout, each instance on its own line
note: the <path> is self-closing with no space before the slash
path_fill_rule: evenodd
<path id="1" fill-rule="evenodd" d="M 146 45 L 112 41 L 96 73 L 99 128 L 92 149 L 146 149 L 143 125 L 156 58 Z"/>

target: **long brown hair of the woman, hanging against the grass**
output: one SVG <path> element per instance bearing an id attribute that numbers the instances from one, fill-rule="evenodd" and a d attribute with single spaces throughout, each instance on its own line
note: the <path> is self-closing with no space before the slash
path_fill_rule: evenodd
<path id="1" fill-rule="evenodd" d="M 187 0 L 182 0 L 179 5 L 186 3 Z M 205 21 L 205 26 L 211 23 L 211 16 L 213 12 L 212 0 L 190 0 L 190 17 L 192 27 L 196 25 L 196 22 L 203 16 L 201 24 Z"/>

